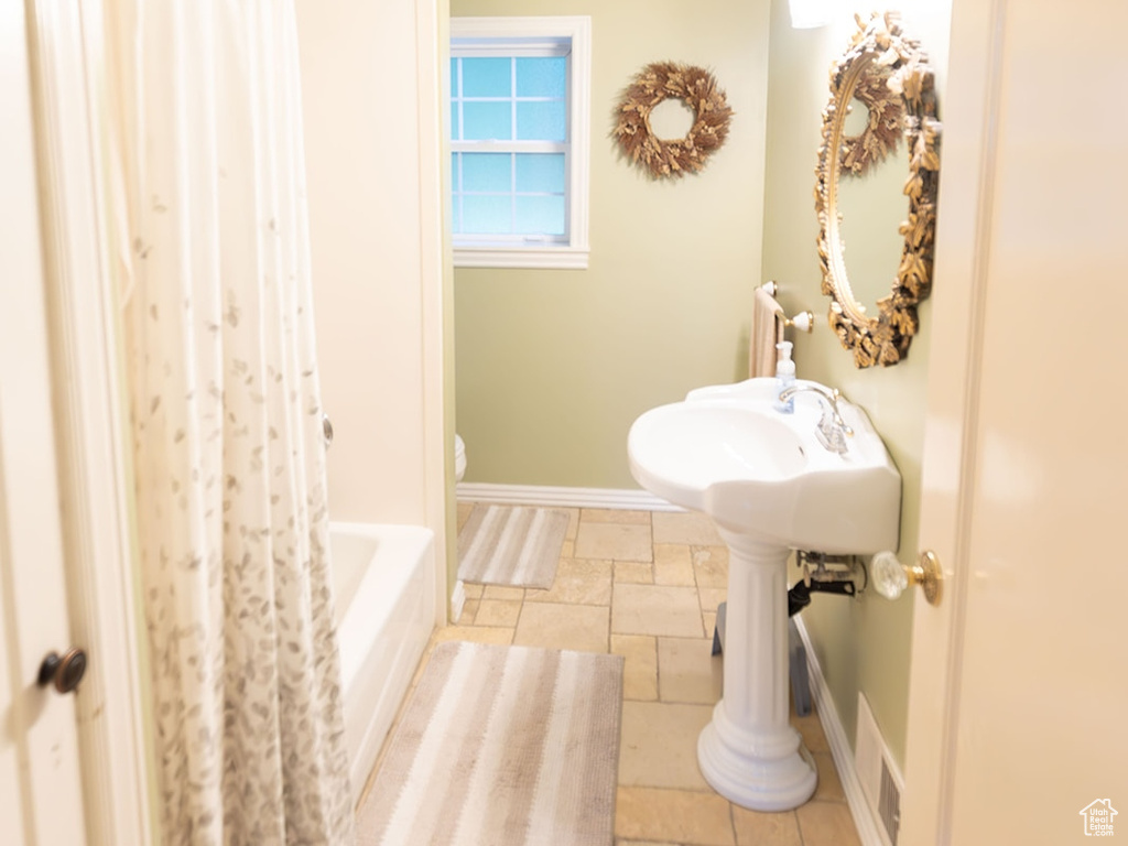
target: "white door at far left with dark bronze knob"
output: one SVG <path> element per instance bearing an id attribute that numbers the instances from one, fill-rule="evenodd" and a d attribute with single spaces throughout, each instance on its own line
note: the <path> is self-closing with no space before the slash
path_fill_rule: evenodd
<path id="1" fill-rule="evenodd" d="M 71 644 L 23 2 L 0 3 L 0 843 L 86 843 L 73 695 L 36 684 Z"/>

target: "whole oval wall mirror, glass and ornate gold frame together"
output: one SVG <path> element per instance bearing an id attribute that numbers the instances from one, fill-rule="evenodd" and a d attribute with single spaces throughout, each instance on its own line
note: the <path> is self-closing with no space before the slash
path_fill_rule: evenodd
<path id="1" fill-rule="evenodd" d="M 854 364 L 888 367 L 908 354 L 932 287 L 940 122 L 932 69 L 899 16 L 856 20 L 822 113 L 819 261 Z"/>

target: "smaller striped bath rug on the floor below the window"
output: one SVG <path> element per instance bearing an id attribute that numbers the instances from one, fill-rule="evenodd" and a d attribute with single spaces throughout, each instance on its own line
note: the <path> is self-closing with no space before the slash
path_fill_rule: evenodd
<path id="1" fill-rule="evenodd" d="M 567 534 L 558 509 L 477 504 L 458 534 L 458 578 L 475 584 L 552 588 Z"/>

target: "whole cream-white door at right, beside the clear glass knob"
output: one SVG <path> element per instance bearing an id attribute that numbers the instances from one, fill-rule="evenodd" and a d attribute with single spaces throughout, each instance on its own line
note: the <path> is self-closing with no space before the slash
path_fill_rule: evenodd
<path id="1" fill-rule="evenodd" d="M 953 3 L 901 846 L 1128 836 L 1125 33 Z"/>

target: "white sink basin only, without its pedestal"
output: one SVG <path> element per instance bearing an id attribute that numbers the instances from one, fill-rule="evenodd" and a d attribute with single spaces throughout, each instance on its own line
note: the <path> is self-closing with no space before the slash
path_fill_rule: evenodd
<path id="1" fill-rule="evenodd" d="M 797 385 L 812 385 L 799 380 Z M 838 400 L 854 435 L 838 455 L 816 437 L 823 400 L 773 408 L 775 379 L 699 388 L 653 408 L 627 439 L 638 483 L 764 544 L 829 554 L 896 549 L 901 477 L 865 413 Z"/>

